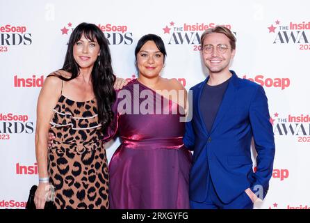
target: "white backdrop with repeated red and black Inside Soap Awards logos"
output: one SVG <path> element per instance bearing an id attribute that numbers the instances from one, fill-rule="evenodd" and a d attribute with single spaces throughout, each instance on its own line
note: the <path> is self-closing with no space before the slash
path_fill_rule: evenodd
<path id="1" fill-rule="evenodd" d="M 97 24 L 110 44 L 117 77 L 136 78 L 134 49 L 161 36 L 163 77 L 190 89 L 206 78 L 199 36 L 225 25 L 236 34 L 231 64 L 266 91 L 276 143 L 266 199 L 255 208 L 310 208 L 310 3 L 286 1 L 0 1 L 0 208 L 24 208 L 38 183 L 35 119 L 46 76 L 63 66 L 81 22 Z M 227 111 L 229 112 L 229 111 Z M 119 141 L 107 145 L 111 159 Z"/>

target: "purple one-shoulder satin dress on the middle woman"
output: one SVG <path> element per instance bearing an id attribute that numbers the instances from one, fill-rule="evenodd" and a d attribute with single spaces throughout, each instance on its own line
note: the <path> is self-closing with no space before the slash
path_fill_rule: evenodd
<path id="1" fill-rule="evenodd" d="M 154 97 L 139 96 L 143 91 Z M 117 94 L 126 97 L 115 102 L 117 115 L 105 137 L 110 139 L 118 131 L 122 142 L 109 164 L 110 207 L 190 208 L 192 155 L 183 146 L 185 123 L 179 121 L 181 107 L 137 79 Z M 145 109 L 153 114 L 145 114 Z"/>

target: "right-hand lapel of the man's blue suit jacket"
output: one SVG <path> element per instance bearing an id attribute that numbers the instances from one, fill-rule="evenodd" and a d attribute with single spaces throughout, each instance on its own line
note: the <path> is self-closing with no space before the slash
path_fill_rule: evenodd
<path id="1" fill-rule="evenodd" d="M 225 91 L 220 108 L 218 109 L 218 114 L 215 117 L 211 133 L 215 130 L 215 128 L 218 127 L 218 124 L 220 123 L 220 121 L 222 121 L 222 118 L 224 118 L 224 116 L 229 113 L 229 107 L 231 107 L 232 103 L 236 98 L 236 93 L 238 90 L 238 77 L 234 73 L 234 71 L 231 71 L 231 73 L 232 77 Z"/>

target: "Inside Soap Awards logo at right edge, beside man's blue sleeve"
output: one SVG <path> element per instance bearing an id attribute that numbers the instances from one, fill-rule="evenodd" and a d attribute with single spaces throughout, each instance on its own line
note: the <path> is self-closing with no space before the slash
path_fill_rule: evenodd
<path id="1" fill-rule="evenodd" d="M 310 115 L 275 112 L 270 116 L 275 137 L 295 137 L 299 143 L 310 142 Z"/>

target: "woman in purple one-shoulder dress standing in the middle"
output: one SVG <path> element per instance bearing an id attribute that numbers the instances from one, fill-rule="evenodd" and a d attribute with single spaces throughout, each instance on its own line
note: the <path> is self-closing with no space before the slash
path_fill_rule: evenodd
<path id="1" fill-rule="evenodd" d="M 109 164 L 111 208 L 189 208 L 191 153 L 183 146 L 186 90 L 177 79 L 160 76 L 165 45 L 142 36 L 135 50 L 138 79 L 117 93 L 116 132 L 122 144 Z"/>

